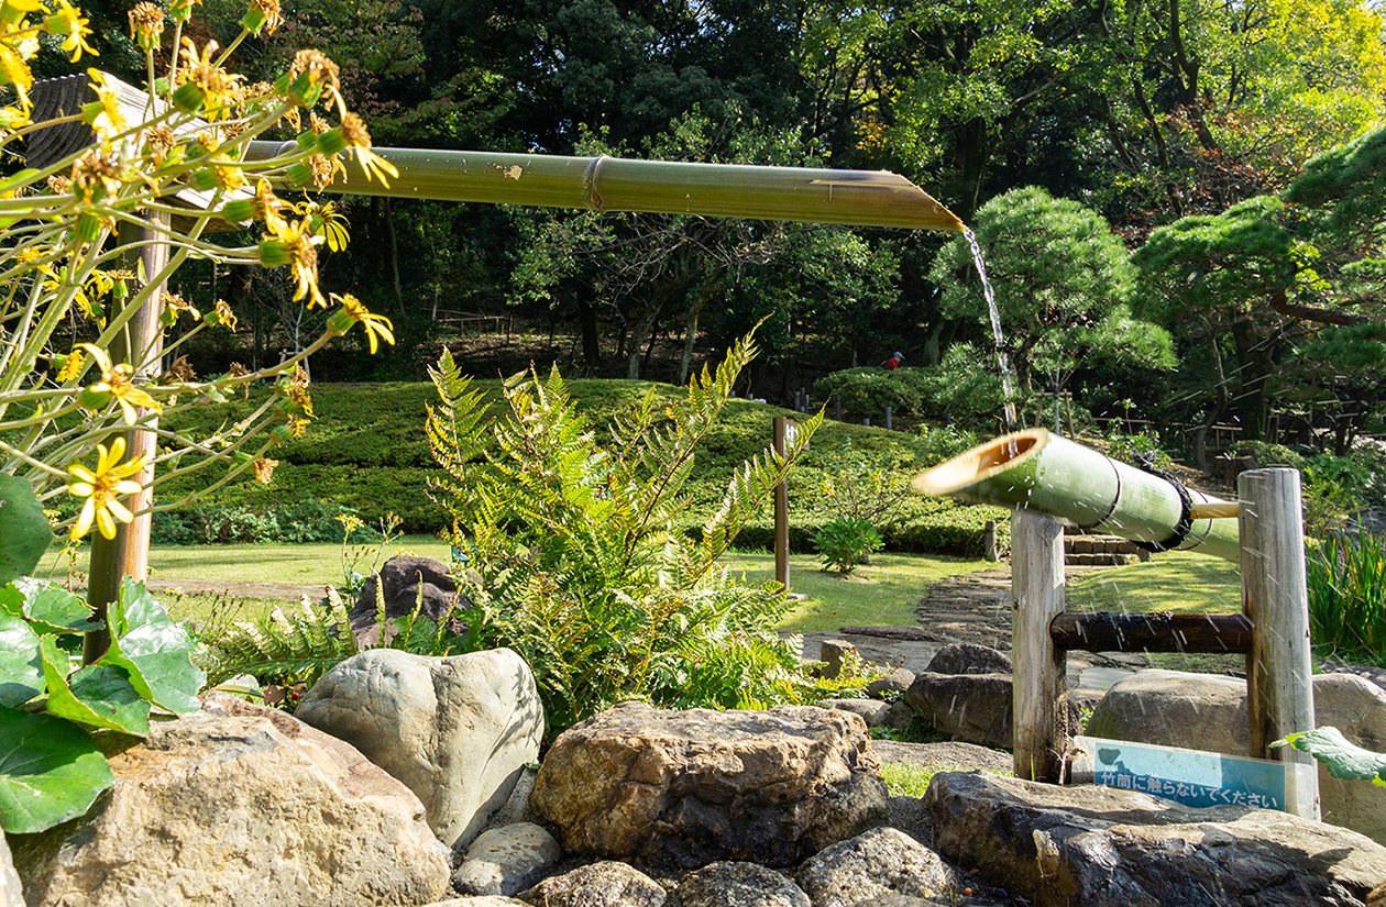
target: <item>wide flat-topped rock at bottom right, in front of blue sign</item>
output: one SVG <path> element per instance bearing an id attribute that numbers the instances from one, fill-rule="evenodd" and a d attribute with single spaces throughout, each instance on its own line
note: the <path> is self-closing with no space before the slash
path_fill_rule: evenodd
<path id="1" fill-rule="evenodd" d="M 1286 813 L 1134 791 L 936 775 L 934 847 L 1035 907 L 1361 907 L 1386 847 Z"/>

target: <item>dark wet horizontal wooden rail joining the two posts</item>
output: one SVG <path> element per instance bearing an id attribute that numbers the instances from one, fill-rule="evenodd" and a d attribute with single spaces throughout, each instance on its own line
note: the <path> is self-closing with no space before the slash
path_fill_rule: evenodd
<path id="1" fill-rule="evenodd" d="M 1066 611 L 1049 622 L 1049 638 L 1064 651 L 1246 655 L 1252 651 L 1252 622 L 1239 613 Z"/>

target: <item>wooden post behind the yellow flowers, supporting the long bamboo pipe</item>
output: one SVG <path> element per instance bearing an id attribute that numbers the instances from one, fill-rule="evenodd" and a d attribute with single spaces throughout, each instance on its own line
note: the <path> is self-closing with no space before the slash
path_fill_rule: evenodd
<path id="1" fill-rule="evenodd" d="M 118 241 L 121 245 L 139 245 L 137 252 L 128 255 L 126 266 L 136 270 L 143 266 L 144 274 L 152 278 L 164 270 L 169 260 L 168 242 L 162 240 L 168 235 L 168 215 L 151 215 L 161 219 L 164 231 L 155 227 L 140 227 L 128 222 L 121 222 Z M 136 264 L 139 262 L 140 264 Z M 132 287 L 137 292 L 139 287 Z M 139 312 L 134 313 L 111 346 L 112 363 L 129 363 L 134 368 L 133 381 L 136 385 L 147 384 L 158 377 L 161 371 L 159 354 L 164 349 L 164 328 L 159 325 L 159 314 L 164 312 L 164 288 L 157 287 Z M 155 449 L 155 435 L 151 431 L 129 429 L 125 432 L 126 460 L 139 460 L 146 453 L 152 454 Z M 140 483 L 141 490 L 125 499 L 125 505 L 130 512 L 139 514 L 146 510 L 154 496 L 148 489 L 154 478 L 154 467 L 146 467 L 143 472 L 130 476 Z M 150 514 L 137 515 L 129 523 L 116 523 L 115 539 L 107 539 L 101 533 L 91 536 L 91 565 L 87 583 L 87 607 L 91 608 L 91 620 L 103 625 L 101 630 L 89 631 L 82 641 L 82 661 L 90 665 L 101 658 L 111 648 L 111 636 L 104 629 L 107 607 L 121 594 L 121 580 L 133 576 L 144 580 L 150 572 Z"/>

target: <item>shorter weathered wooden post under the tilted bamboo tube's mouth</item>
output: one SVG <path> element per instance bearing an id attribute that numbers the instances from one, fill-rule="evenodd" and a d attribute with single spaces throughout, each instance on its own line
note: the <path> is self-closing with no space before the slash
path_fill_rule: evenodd
<path id="1" fill-rule="evenodd" d="M 1058 784 L 1069 745 L 1066 655 L 1049 622 L 1063 613 L 1063 526 L 1035 511 L 1010 515 L 1010 605 L 1016 777 Z"/>

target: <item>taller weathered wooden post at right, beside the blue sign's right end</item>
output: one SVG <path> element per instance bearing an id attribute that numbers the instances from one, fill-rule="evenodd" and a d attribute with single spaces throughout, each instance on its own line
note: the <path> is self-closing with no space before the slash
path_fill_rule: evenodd
<path id="1" fill-rule="evenodd" d="M 1242 611 L 1252 622 L 1246 656 L 1250 753 L 1285 763 L 1285 810 L 1318 820 L 1318 769 L 1308 753 L 1270 744 L 1314 730 L 1304 523 L 1297 469 L 1252 469 L 1236 478 L 1240 499 Z"/>

